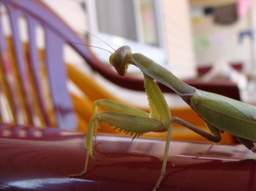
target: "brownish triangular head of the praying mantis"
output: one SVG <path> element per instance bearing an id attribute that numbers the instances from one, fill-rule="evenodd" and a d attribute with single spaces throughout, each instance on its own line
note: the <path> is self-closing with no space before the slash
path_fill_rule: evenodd
<path id="1" fill-rule="evenodd" d="M 119 47 L 118 50 L 110 55 L 110 64 L 116 69 L 120 76 L 127 74 L 129 66 L 129 58 L 132 55 L 132 50 L 128 46 Z"/>

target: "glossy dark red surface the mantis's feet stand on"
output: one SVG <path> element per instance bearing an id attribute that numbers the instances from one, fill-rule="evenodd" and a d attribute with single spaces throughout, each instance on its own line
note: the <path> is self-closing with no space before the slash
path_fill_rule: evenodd
<path id="1" fill-rule="evenodd" d="M 47 128 L 0 125 L 0 190 L 151 190 L 163 139 L 97 135 L 89 172 L 85 136 Z M 171 141 L 159 190 L 256 190 L 256 155 L 244 146 Z"/>

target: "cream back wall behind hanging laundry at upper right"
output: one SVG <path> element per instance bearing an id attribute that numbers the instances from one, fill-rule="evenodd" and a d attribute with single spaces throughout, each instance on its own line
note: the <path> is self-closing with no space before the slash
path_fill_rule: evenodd
<path id="1" fill-rule="evenodd" d="M 195 5 L 195 0 L 192 1 Z M 197 0 L 197 4 L 200 1 Z M 206 2 L 206 1 L 205 1 Z M 233 3 L 234 1 L 230 1 Z M 203 4 L 195 7 L 207 7 L 209 4 Z M 211 6 L 211 4 L 210 4 Z M 219 6 L 219 4 L 214 4 Z M 252 66 L 252 40 L 245 37 L 241 43 L 238 42 L 238 36 L 241 31 L 251 28 L 249 12 L 239 18 L 236 23 L 229 25 L 220 25 L 214 23 L 212 15 L 201 15 L 194 18 L 192 25 L 194 40 L 197 43 L 201 41 L 208 42 L 205 46 L 201 44 L 196 49 L 196 57 L 198 66 L 208 66 L 222 60 L 229 62 L 244 63 L 244 68 L 248 71 Z"/>

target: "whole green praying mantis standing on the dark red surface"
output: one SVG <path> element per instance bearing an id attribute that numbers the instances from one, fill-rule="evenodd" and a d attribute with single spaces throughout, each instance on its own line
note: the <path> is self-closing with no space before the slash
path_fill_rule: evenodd
<path id="1" fill-rule="evenodd" d="M 118 104 L 114 101 L 99 100 L 94 103 L 94 116 L 91 117 L 86 135 L 86 165 L 80 174 L 69 177 L 83 176 L 87 172 L 89 156 L 93 156 L 94 128 L 98 122 L 106 122 L 121 131 L 130 133 L 134 138 L 148 132 L 165 132 L 167 139 L 162 170 L 154 187 L 157 190 L 165 175 L 167 153 L 170 145 L 170 135 L 173 122 L 177 122 L 200 136 L 214 142 L 221 141 L 221 132 L 226 131 L 235 136 L 252 152 L 256 152 L 256 106 L 245 104 L 222 95 L 197 90 L 195 87 L 182 82 L 170 71 L 140 53 L 133 53 L 128 46 L 120 47 L 109 58 L 110 64 L 119 75 L 125 76 L 129 64 L 137 66 L 144 75 L 144 86 L 148 97 L 150 113 L 139 109 Z M 156 81 L 175 91 L 197 114 L 206 122 L 212 134 L 194 125 L 172 117 Z M 98 113 L 98 107 L 108 112 Z"/>

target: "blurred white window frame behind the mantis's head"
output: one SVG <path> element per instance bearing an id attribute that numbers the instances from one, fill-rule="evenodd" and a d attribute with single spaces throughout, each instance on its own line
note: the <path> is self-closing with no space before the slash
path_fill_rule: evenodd
<path id="1" fill-rule="evenodd" d="M 85 0 L 86 5 L 88 7 L 88 16 L 89 16 L 89 31 L 97 36 L 99 39 L 104 40 L 108 44 L 111 45 L 114 49 L 117 49 L 118 47 L 128 45 L 132 48 L 132 52 L 140 52 L 143 55 L 146 55 L 148 58 L 151 58 L 152 60 L 156 61 L 160 65 L 164 66 L 167 64 L 167 55 L 166 55 L 166 48 L 165 48 L 165 38 L 163 35 L 163 28 L 162 28 L 162 16 L 161 16 L 161 6 L 160 1 L 153 0 L 154 3 L 154 11 L 155 11 L 155 20 L 157 25 L 157 38 L 159 42 L 159 47 L 151 46 L 148 44 L 144 44 L 142 42 L 135 42 L 129 39 L 125 39 L 120 36 L 114 36 L 110 34 L 105 34 L 101 31 L 99 31 L 98 25 L 97 25 L 97 9 L 96 9 L 96 1 L 95 0 Z M 138 20 L 138 7 L 136 7 L 136 0 L 134 1 L 134 9 L 135 9 L 135 20 Z M 137 10 L 136 10 L 137 9 Z M 138 27 L 138 22 L 135 22 L 136 30 L 140 30 Z M 140 39 L 141 32 L 137 31 L 138 39 Z M 99 39 L 90 37 L 90 44 L 97 47 L 106 48 L 107 50 L 110 50 L 110 52 L 113 52 L 108 45 L 103 44 L 99 41 Z M 109 58 L 109 52 L 104 52 L 102 50 L 94 49 L 94 53 L 97 54 L 99 59 L 102 61 L 108 62 Z M 152 53 L 154 52 L 154 53 Z M 135 67 L 129 67 L 129 71 L 139 71 L 138 69 L 135 69 Z"/>

